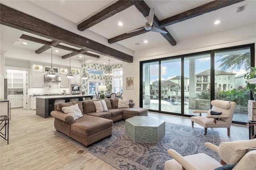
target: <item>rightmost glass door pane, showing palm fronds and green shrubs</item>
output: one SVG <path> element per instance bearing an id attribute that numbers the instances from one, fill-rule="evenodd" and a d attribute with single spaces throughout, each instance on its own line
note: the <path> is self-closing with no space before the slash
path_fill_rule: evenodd
<path id="1" fill-rule="evenodd" d="M 215 53 L 215 99 L 236 102 L 233 121 L 247 122 L 250 90 L 244 74 L 250 72 L 250 48 Z M 220 78 L 221 77 L 221 78 Z"/>

